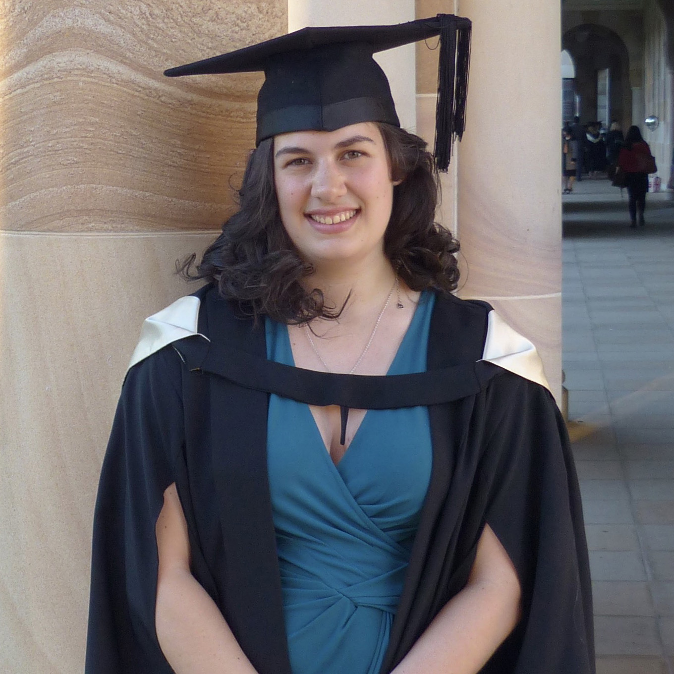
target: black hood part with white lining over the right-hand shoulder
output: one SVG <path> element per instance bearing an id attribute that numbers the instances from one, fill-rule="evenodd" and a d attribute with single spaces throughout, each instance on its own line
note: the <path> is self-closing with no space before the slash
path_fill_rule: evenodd
<path id="1" fill-rule="evenodd" d="M 485 301 L 437 297 L 429 348 L 445 365 L 485 361 L 550 388 L 536 346 Z"/>

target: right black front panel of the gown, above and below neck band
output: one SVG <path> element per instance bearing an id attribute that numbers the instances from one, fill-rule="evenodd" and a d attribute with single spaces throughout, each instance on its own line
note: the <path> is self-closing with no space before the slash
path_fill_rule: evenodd
<path id="1" fill-rule="evenodd" d="M 488 363 L 477 363 L 487 336 L 488 309 L 485 303 L 436 298 L 429 330 L 428 371 L 460 371 L 475 363 L 481 386 L 497 372 Z M 456 594 L 468 579 L 477 538 L 466 537 L 468 543 L 458 549 L 460 528 L 477 532 L 481 523 L 462 522 L 471 482 L 464 476 L 474 472 L 477 457 L 461 452 L 460 445 L 466 440 L 478 390 L 456 396 L 455 400 L 461 398 L 458 404 L 450 405 L 448 398 L 447 402 L 429 405 L 433 470 L 381 672 L 390 671 L 400 662 L 448 601 L 448 594 Z M 455 556 L 458 564 L 452 561 Z M 448 578 L 450 570 L 452 578 Z M 443 590 L 439 592 L 439 588 Z"/>

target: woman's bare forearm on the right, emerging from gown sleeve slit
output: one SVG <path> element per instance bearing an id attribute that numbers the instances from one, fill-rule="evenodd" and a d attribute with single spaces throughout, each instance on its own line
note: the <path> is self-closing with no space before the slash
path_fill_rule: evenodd
<path id="1" fill-rule="evenodd" d="M 520 596 L 510 557 L 487 524 L 466 586 L 392 674 L 476 674 L 517 624 Z"/>

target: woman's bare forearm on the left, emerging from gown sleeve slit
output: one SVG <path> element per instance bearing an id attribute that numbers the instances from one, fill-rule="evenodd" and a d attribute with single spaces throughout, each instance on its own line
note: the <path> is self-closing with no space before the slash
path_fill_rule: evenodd
<path id="1" fill-rule="evenodd" d="M 176 674 L 255 674 L 218 607 L 189 569 L 187 522 L 175 483 L 156 522 L 155 626 Z"/>

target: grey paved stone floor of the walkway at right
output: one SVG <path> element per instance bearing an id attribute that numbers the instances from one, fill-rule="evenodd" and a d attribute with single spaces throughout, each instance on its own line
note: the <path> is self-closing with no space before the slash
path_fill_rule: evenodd
<path id="1" fill-rule="evenodd" d="M 586 180 L 564 197 L 563 367 L 598 674 L 674 674 L 674 201 Z"/>

